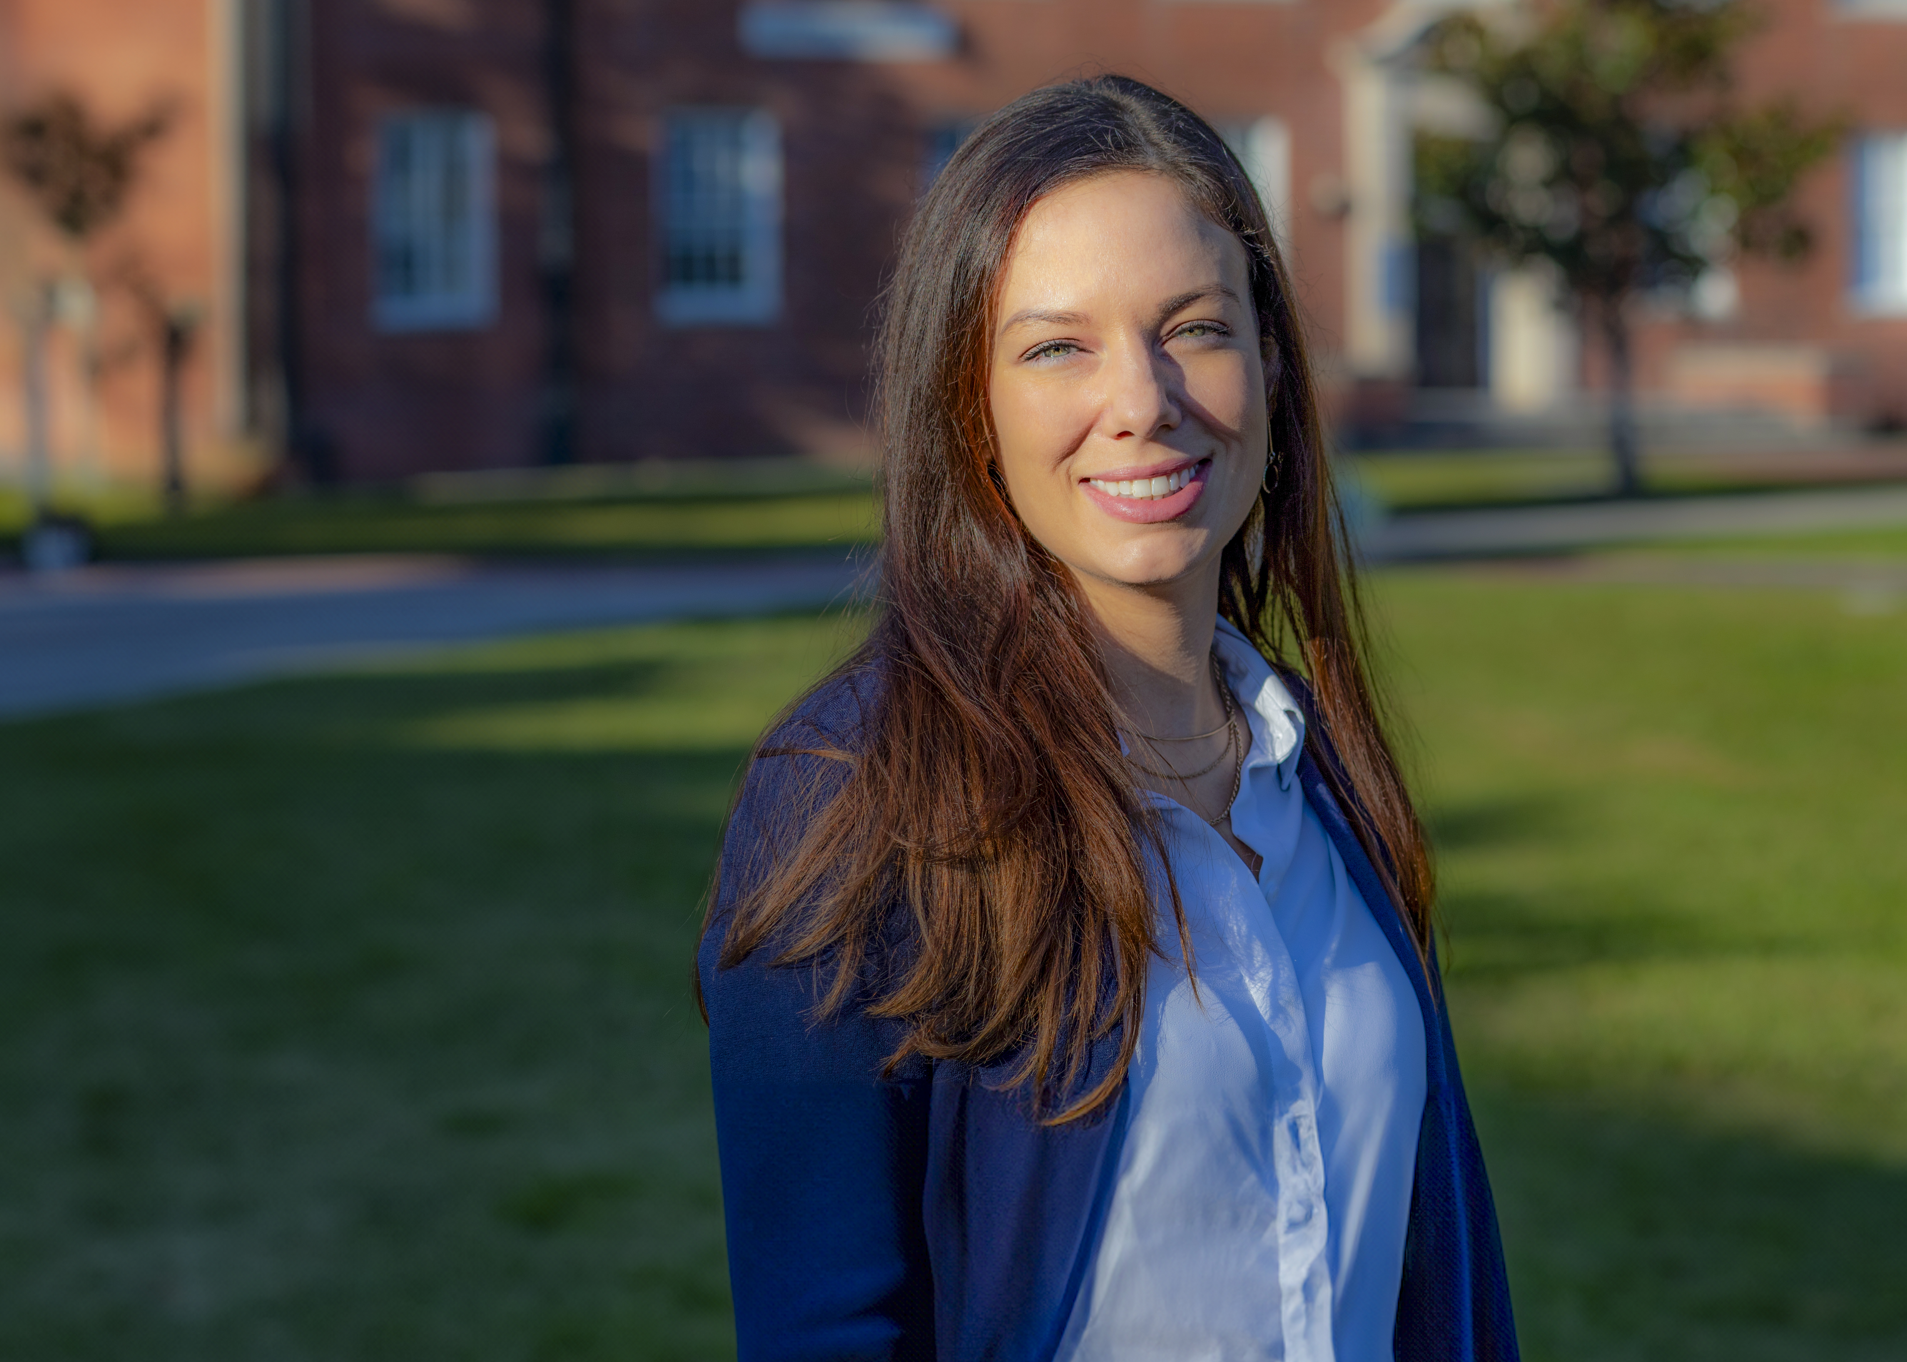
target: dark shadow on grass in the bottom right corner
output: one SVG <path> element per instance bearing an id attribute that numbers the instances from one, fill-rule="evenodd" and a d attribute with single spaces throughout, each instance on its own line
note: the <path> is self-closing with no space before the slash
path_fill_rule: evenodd
<path id="1" fill-rule="evenodd" d="M 1907 1356 L 1907 1169 L 1470 1099 L 1531 1362 Z"/>

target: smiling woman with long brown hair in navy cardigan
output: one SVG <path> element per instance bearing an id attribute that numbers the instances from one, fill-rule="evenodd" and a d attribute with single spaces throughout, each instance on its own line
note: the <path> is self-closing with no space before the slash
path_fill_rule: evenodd
<path id="1" fill-rule="evenodd" d="M 757 748 L 698 960 L 742 1356 L 1514 1358 L 1238 162 L 1133 80 L 1009 105 L 879 380 L 877 622 Z"/>

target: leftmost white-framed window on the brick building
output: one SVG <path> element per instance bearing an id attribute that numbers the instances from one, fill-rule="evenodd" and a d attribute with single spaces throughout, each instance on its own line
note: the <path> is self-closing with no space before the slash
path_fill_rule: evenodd
<path id="1" fill-rule="evenodd" d="M 496 317 L 496 135 L 469 109 L 378 120 L 372 322 L 469 330 Z"/>

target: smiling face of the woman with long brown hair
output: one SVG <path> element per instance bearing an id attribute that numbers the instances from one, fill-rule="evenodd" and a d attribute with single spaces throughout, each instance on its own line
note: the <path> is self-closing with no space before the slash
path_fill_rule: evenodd
<path id="1" fill-rule="evenodd" d="M 1026 214 L 997 319 L 988 397 L 1028 532 L 1089 599 L 1217 599 L 1268 448 L 1245 248 L 1163 175 L 1098 175 Z"/>

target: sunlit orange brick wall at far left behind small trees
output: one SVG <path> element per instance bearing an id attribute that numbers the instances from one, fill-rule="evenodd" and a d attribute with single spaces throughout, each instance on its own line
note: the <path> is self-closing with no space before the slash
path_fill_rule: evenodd
<path id="1" fill-rule="evenodd" d="M 23 469 L 23 341 L 50 317 L 46 406 L 63 481 L 147 479 L 158 460 L 154 309 L 196 320 L 183 374 L 198 467 L 256 465 L 246 315 L 246 53 L 238 0 L 0 0 L 0 114 L 53 93 L 103 128 L 166 111 L 124 214 L 92 240 L 51 231 L 0 175 L 0 479 Z"/>

